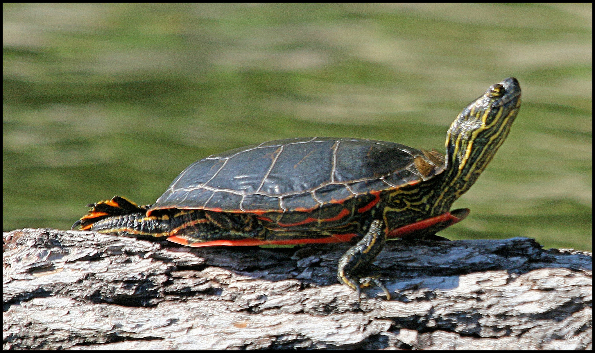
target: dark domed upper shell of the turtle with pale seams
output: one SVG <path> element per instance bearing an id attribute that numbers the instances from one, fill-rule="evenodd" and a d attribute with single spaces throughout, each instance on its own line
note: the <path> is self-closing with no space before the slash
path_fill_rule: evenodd
<path id="1" fill-rule="evenodd" d="M 353 199 L 361 200 L 356 205 L 359 210 L 367 201 L 378 202 L 385 190 L 441 173 L 444 164 L 431 164 L 428 157 L 427 151 L 369 139 L 273 140 L 190 164 L 147 214 L 168 208 L 255 215 L 311 213 Z M 420 170 L 421 160 L 431 166 L 429 170 Z"/>

